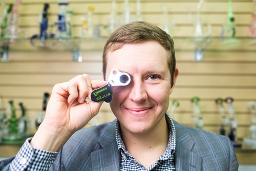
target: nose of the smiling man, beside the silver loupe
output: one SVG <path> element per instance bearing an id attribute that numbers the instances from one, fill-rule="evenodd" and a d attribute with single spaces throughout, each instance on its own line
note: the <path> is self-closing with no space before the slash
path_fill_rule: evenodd
<path id="1" fill-rule="evenodd" d="M 134 102 L 142 102 L 147 99 L 147 91 L 145 84 L 140 79 L 131 81 L 131 92 L 129 98 Z"/>

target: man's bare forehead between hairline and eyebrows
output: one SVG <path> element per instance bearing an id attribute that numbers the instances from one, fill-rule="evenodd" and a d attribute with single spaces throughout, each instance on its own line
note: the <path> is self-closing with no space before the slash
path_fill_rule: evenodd
<path id="1" fill-rule="evenodd" d="M 132 67 L 168 69 L 167 51 L 156 41 L 125 44 L 106 55 L 108 73 L 112 68 L 124 71 Z"/>

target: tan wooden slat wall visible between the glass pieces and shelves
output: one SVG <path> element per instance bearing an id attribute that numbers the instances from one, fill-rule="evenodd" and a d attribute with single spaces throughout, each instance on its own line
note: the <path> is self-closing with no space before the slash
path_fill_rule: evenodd
<path id="1" fill-rule="evenodd" d="M 14 1 L 6 1 L 12 3 Z M 57 0 L 48 0 L 50 3 L 50 30 L 54 32 L 53 23 L 57 19 Z M 69 1 L 68 9 L 74 10 L 72 17 L 73 35 L 81 34 L 81 17 L 87 13 L 89 5 L 95 6 L 94 24 L 101 26 L 102 36 L 108 36 L 104 26 L 109 22 L 111 1 Z M 19 7 L 19 26 L 29 36 L 38 34 L 38 13 L 42 10 L 42 0 L 24 0 Z M 189 20 L 188 13 L 195 16 L 198 1 L 141 1 L 142 17 L 147 22 L 163 26 L 162 5 L 169 10 L 169 21 L 175 20 L 176 27 L 172 28 L 172 36 L 190 36 L 193 34 L 193 20 Z M 123 1 L 117 1 L 117 14 L 122 16 Z M 132 17 L 136 18 L 136 1 L 130 1 Z M 247 27 L 253 11 L 252 1 L 233 1 L 233 11 L 236 18 L 238 36 L 248 36 Z M 202 19 L 212 25 L 212 36 L 219 36 L 221 27 L 226 23 L 227 1 L 205 1 L 201 9 Z M 180 40 L 177 40 L 180 41 Z M 0 63 L 0 95 L 3 104 L 10 99 L 15 101 L 17 113 L 19 102 L 24 102 L 30 119 L 35 119 L 41 110 L 42 95 L 51 92 L 55 83 L 63 82 L 72 77 L 88 73 L 92 79 L 101 79 L 101 53 L 104 41 L 98 42 L 94 51 L 82 51 L 81 63 L 72 61 L 71 52 L 67 51 L 11 51 L 9 62 Z M 86 46 L 88 44 L 85 44 Z M 18 45 L 17 45 L 18 46 Z M 98 48 L 102 47 L 102 48 Z M 82 47 L 83 49 L 84 47 Z M 250 113 L 247 109 L 248 101 L 256 101 L 256 58 L 255 46 L 225 51 L 206 51 L 203 62 L 194 62 L 194 52 L 187 50 L 181 44 L 176 44 L 177 67 L 180 75 L 176 88 L 170 96 L 180 101 L 180 107 L 173 117 L 180 123 L 192 125 L 191 115 L 193 106 L 190 98 L 199 96 L 201 111 L 204 117 L 204 129 L 218 133 L 220 116 L 214 100 L 218 97 L 234 98 L 234 110 L 238 119 L 239 138 L 249 136 Z M 248 48 L 248 49 L 247 49 Z M 22 50 L 22 48 L 20 48 Z M 86 49 L 86 48 L 85 48 Z M 228 105 L 225 104 L 226 113 Z M 114 119 L 108 104 L 103 104 L 98 115 L 99 123 Z M 90 124 L 93 124 L 90 123 Z"/>

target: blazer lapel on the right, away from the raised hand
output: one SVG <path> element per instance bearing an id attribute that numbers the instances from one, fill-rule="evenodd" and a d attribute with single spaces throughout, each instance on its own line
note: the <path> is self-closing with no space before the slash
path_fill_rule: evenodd
<path id="1" fill-rule="evenodd" d="M 174 121 L 176 129 L 175 167 L 176 170 L 201 170 L 202 157 L 192 152 L 195 145 L 186 127 Z"/>

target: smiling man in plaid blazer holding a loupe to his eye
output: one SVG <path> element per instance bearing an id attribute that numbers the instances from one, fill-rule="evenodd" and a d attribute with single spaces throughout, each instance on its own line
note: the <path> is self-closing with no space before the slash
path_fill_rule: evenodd
<path id="1" fill-rule="evenodd" d="M 158 27 L 135 22 L 117 29 L 103 51 L 103 77 L 113 68 L 131 76 L 112 87 L 117 120 L 81 129 L 102 101 L 87 102 L 107 82 L 86 74 L 56 84 L 46 117 L 10 170 L 237 170 L 228 138 L 185 127 L 166 114 L 178 76 L 173 39 Z M 79 131 L 78 131 L 79 130 Z"/>

